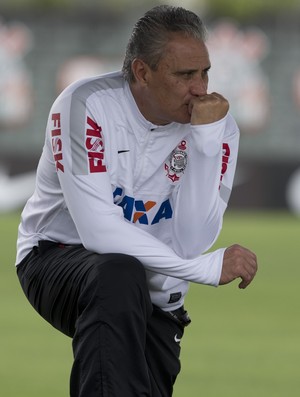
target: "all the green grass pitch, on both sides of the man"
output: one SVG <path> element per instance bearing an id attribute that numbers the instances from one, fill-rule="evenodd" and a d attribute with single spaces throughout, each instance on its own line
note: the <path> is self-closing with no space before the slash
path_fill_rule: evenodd
<path id="1" fill-rule="evenodd" d="M 5 397 L 65 397 L 71 340 L 27 303 L 14 269 L 19 214 L 0 216 L 0 390 Z M 228 212 L 216 247 L 256 252 L 252 285 L 192 285 L 192 324 L 181 342 L 174 397 L 296 397 L 300 390 L 300 219 Z"/>

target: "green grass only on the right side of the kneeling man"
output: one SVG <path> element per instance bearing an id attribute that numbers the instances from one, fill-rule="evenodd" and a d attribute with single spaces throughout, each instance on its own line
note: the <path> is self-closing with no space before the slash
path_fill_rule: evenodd
<path id="1" fill-rule="evenodd" d="M 299 395 L 299 237 L 291 215 L 228 213 L 216 246 L 252 249 L 259 272 L 246 290 L 192 285 L 175 397 Z"/>

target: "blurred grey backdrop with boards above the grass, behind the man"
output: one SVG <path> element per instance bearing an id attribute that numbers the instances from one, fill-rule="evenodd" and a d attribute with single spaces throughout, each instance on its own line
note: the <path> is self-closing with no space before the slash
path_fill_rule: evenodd
<path id="1" fill-rule="evenodd" d="M 300 213 L 300 3 L 162 1 L 209 29 L 210 89 L 241 128 L 232 208 Z M 119 69 L 136 19 L 160 1 L 1 0 L 0 212 L 31 194 L 50 106 L 72 81 Z"/>

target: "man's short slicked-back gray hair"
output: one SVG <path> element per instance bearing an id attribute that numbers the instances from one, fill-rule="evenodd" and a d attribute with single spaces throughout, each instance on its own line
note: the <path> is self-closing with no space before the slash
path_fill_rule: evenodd
<path id="1" fill-rule="evenodd" d="M 123 63 L 123 76 L 135 81 L 131 64 L 135 58 L 142 59 L 152 70 L 157 70 L 170 34 L 182 32 L 186 36 L 206 40 L 206 28 L 192 11 L 182 7 L 161 5 L 152 8 L 135 24 L 129 39 Z"/>

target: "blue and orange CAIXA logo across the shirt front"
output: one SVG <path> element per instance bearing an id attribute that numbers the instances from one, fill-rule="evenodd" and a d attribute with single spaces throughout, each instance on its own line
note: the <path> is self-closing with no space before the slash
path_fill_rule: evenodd
<path id="1" fill-rule="evenodd" d="M 127 195 L 123 196 L 123 189 L 120 187 L 115 189 L 113 195 L 115 203 L 123 208 L 124 218 L 130 222 L 139 222 L 143 225 L 154 225 L 161 219 L 172 218 L 173 211 L 169 199 L 162 202 L 158 207 L 155 201 L 148 200 L 144 202 L 143 200 L 135 200 L 133 197 Z M 155 207 L 157 207 L 157 209 Z M 152 208 L 154 211 L 151 211 L 150 218 L 148 212 Z"/>

